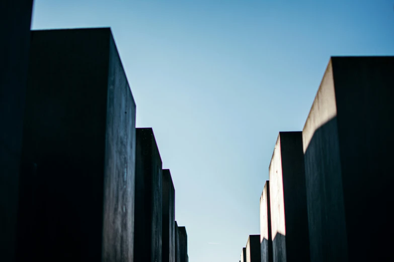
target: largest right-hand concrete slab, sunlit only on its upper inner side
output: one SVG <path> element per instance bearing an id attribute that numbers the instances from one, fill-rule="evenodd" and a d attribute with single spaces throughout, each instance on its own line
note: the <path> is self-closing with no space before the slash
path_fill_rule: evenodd
<path id="1" fill-rule="evenodd" d="M 394 260 L 393 86 L 394 57 L 328 64 L 302 131 L 311 261 Z"/>

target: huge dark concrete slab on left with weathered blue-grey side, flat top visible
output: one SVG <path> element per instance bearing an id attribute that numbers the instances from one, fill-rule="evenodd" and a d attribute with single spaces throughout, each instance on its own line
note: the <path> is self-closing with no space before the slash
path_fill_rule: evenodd
<path id="1" fill-rule="evenodd" d="M 133 260 L 135 144 L 111 30 L 33 31 L 18 260 Z"/>

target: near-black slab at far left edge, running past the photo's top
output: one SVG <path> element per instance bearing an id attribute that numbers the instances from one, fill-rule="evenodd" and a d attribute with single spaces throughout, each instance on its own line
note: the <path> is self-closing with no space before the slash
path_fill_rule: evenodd
<path id="1" fill-rule="evenodd" d="M 33 0 L 0 1 L 0 260 L 14 261 Z"/>

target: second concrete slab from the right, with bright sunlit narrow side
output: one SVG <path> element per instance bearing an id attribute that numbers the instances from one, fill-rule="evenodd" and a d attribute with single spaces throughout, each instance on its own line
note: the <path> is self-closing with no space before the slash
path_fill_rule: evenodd
<path id="1" fill-rule="evenodd" d="M 273 261 L 309 261 L 302 132 L 280 132 L 270 167 Z"/>

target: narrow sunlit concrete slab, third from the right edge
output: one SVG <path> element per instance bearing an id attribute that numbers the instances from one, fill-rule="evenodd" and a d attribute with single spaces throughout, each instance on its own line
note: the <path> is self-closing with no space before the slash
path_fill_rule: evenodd
<path id="1" fill-rule="evenodd" d="M 260 245 L 261 262 L 272 262 L 272 232 L 271 232 L 271 205 L 270 182 L 266 181 L 260 197 Z"/>

